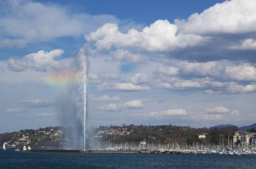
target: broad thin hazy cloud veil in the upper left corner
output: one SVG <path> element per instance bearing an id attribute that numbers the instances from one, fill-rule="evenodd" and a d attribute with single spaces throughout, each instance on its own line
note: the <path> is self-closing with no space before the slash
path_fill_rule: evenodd
<path id="1" fill-rule="evenodd" d="M 86 15 L 53 3 L 34 1 L 1 2 L 0 44 L 24 47 L 28 42 L 51 40 L 63 36 L 79 36 L 108 21 L 117 22 L 111 15 Z M 54 28 L 53 28 L 54 27 Z M 9 38 L 12 37 L 12 38 Z"/>

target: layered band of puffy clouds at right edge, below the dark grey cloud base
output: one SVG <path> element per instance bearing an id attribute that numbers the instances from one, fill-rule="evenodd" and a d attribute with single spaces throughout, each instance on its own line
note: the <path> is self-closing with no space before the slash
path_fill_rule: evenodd
<path id="1" fill-rule="evenodd" d="M 256 91 L 256 67 L 250 62 L 191 62 L 172 59 L 164 65 L 154 71 L 156 87 L 172 90 L 199 89 L 205 94 Z"/>

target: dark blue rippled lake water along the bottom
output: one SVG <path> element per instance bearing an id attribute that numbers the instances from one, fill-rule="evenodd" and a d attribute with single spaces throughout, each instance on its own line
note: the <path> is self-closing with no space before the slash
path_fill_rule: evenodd
<path id="1" fill-rule="evenodd" d="M 255 155 L 23 153 L 0 150 L 0 168 L 256 168 Z"/>

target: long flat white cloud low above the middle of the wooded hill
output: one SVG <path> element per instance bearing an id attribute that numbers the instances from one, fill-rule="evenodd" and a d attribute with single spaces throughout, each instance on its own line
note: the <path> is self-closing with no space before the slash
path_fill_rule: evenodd
<path id="1" fill-rule="evenodd" d="M 187 112 L 184 109 L 168 109 L 166 111 L 160 112 L 150 112 L 150 113 L 143 113 L 145 117 L 165 117 L 165 116 L 179 116 L 179 115 L 187 115 Z"/>

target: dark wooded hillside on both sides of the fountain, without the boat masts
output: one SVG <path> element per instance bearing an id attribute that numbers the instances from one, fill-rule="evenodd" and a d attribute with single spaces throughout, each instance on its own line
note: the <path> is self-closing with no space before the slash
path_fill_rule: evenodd
<path id="1" fill-rule="evenodd" d="M 192 145 L 193 143 L 219 144 L 228 142 L 228 135 L 232 136 L 238 127 L 228 125 L 226 127 L 194 128 L 177 125 L 123 125 L 123 126 L 100 126 L 90 129 L 90 139 L 101 142 L 139 143 L 143 140 L 159 144 L 179 143 Z M 255 132 L 255 129 L 251 129 Z M 0 145 L 3 142 L 9 147 L 23 147 L 30 144 L 33 147 L 62 147 L 68 134 L 68 129 L 63 127 L 45 127 L 40 129 L 25 129 L 11 133 L 0 134 Z M 200 139 L 199 135 L 205 135 Z"/>

